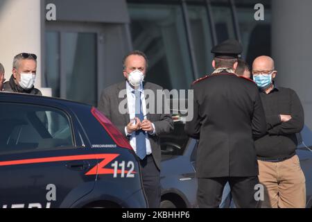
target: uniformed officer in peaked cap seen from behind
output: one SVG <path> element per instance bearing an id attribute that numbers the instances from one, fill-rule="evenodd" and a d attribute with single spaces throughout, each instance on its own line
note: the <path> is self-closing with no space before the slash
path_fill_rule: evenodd
<path id="1" fill-rule="evenodd" d="M 192 85 L 194 116 L 185 130 L 199 139 L 196 174 L 200 207 L 218 207 L 226 182 L 236 207 L 258 207 L 254 139 L 266 133 L 266 119 L 257 85 L 234 73 L 241 51 L 236 40 L 214 46 L 215 71 Z"/>

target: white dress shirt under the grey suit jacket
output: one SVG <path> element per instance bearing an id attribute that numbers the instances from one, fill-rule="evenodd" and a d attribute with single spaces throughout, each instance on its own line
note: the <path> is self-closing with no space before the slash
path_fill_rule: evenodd
<path id="1" fill-rule="evenodd" d="M 128 111 L 130 116 L 130 121 L 132 119 L 135 119 L 135 89 L 133 89 L 128 81 L 125 81 L 125 88 L 127 89 L 127 102 L 128 102 Z M 145 103 L 145 96 L 144 96 L 144 90 L 143 90 L 143 84 L 139 86 L 139 92 L 141 92 L 141 106 L 143 110 L 144 119 L 146 119 L 146 103 Z M 135 122 L 133 123 L 135 125 Z M 146 133 L 146 155 L 150 155 L 152 153 L 152 148 L 150 147 L 150 141 L 148 140 L 148 134 L 155 135 L 155 125 L 153 125 L 153 133 Z M 133 150 L 137 152 L 137 146 L 136 146 L 136 140 L 135 140 L 135 132 L 132 132 L 131 134 L 127 131 L 127 126 L 125 126 L 125 135 L 128 137 L 130 136 L 130 145 L 132 146 Z"/>

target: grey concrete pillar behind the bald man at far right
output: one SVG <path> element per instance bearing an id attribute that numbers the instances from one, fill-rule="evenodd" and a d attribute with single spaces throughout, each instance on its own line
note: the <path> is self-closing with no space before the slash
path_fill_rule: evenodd
<path id="1" fill-rule="evenodd" d="M 312 129 L 312 1 L 272 1 L 272 57 L 277 83 L 295 89 Z"/>

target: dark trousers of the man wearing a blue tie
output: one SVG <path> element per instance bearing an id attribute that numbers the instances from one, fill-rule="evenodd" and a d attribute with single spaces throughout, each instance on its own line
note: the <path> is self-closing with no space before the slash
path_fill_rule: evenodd
<path id="1" fill-rule="evenodd" d="M 159 208 L 160 205 L 160 171 L 152 155 L 140 161 L 143 187 L 148 199 L 148 207 Z"/>

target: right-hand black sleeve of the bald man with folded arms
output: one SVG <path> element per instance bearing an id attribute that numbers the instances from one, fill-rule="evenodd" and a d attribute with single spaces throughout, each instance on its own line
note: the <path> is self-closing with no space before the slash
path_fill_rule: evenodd
<path id="1" fill-rule="evenodd" d="M 304 111 L 299 97 L 295 91 L 291 90 L 291 120 L 282 122 L 281 124 L 268 130 L 269 135 L 290 135 L 300 133 L 304 127 Z M 283 114 L 283 113 L 281 113 Z"/>

